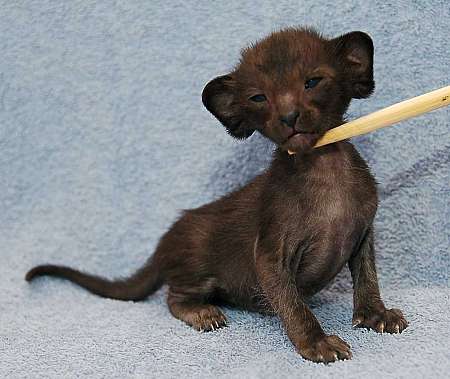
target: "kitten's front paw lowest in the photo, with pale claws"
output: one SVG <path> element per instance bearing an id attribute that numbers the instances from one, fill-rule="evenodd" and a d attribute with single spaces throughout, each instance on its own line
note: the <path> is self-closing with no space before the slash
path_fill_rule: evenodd
<path id="1" fill-rule="evenodd" d="M 313 362 L 330 363 L 352 357 L 350 345 L 338 336 L 320 337 L 299 350 L 303 358 Z"/>

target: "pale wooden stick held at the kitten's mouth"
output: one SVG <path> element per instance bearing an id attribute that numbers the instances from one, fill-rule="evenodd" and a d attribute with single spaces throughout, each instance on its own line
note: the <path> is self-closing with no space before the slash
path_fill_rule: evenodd
<path id="1" fill-rule="evenodd" d="M 387 108 L 360 117 L 346 124 L 330 129 L 314 147 L 328 145 L 347 138 L 373 132 L 397 122 L 415 117 L 450 104 L 450 86 L 446 86 L 424 95 L 396 103 Z M 289 154 L 295 152 L 289 151 Z"/>

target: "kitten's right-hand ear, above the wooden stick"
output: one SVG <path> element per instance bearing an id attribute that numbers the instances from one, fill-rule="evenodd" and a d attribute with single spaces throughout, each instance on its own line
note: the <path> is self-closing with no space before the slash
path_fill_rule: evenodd
<path id="1" fill-rule="evenodd" d="M 351 32 L 331 43 L 345 73 L 349 95 L 356 99 L 369 97 L 375 88 L 372 39 L 366 33 Z"/>

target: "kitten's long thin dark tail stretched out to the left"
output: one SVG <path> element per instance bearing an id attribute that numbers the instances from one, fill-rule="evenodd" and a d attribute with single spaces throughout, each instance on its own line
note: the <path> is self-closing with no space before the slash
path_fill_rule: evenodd
<path id="1" fill-rule="evenodd" d="M 42 265 L 28 271 L 26 281 L 31 281 L 38 276 L 56 276 L 68 279 L 71 282 L 102 297 L 117 300 L 139 301 L 151 295 L 163 284 L 163 279 L 154 260 L 149 261 L 134 275 L 126 279 L 108 280 L 98 276 L 85 274 L 70 267 Z"/>

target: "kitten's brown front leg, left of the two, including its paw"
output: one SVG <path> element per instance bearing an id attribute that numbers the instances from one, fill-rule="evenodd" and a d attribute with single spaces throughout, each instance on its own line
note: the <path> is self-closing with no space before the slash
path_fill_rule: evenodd
<path id="1" fill-rule="evenodd" d="M 271 242 L 257 240 L 255 243 L 258 281 L 297 351 L 305 359 L 314 362 L 350 359 L 350 346 L 338 336 L 326 335 L 303 301 L 295 283 L 295 272 L 286 264 L 286 257 L 281 251 L 283 249 L 276 251 L 276 248 L 271 249 L 269 245 Z"/>

